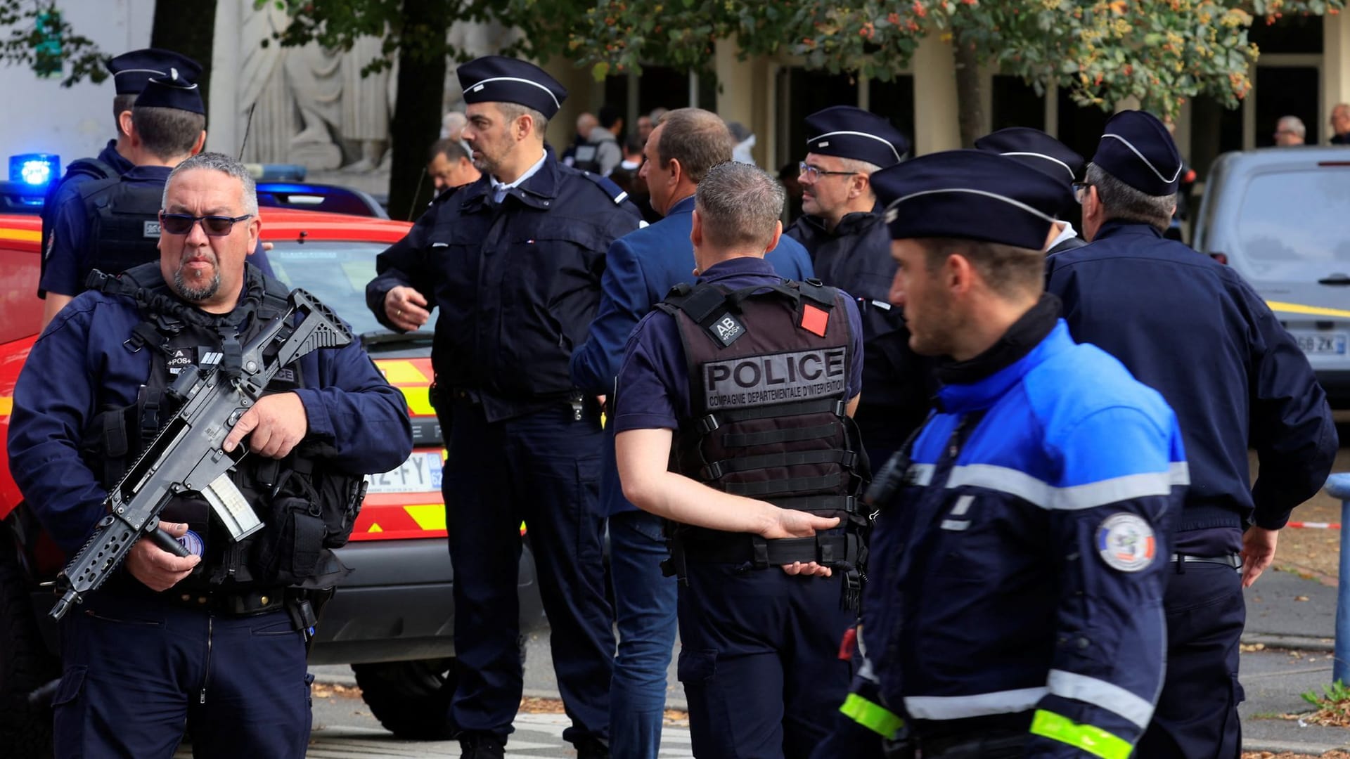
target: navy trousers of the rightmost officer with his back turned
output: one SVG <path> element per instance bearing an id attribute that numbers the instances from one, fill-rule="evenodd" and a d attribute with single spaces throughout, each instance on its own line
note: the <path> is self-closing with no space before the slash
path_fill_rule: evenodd
<path id="1" fill-rule="evenodd" d="M 1176 571 L 1180 566 L 1181 571 Z M 1242 575 L 1184 563 L 1168 570 L 1168 675 L 1135 748 L 1149 759 L 1237 759 L 1242 751 L 1238 642 L 1246 624 Z"/>

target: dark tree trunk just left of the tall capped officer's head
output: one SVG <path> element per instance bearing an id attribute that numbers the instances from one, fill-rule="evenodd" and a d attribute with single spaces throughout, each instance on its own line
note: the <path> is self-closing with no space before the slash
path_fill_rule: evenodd
<path id="1" fill-rule="evenodd" d="M 447 28 L 450 15 L 444 0 L 404 0 L 404 24 L 412 28 Z M 425 176 L 427 150 L 440 138 L 441 107 L 446 96 L 446 55 L 398 50 L 398 100 L 389 124 L 390 172 L 389 215 L 413 220 L 421 216 L 432 197 Z"/>

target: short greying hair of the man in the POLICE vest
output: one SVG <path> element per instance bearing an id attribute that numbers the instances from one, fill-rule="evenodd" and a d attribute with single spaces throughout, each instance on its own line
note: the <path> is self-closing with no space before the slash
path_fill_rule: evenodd
<path id="1" fill-rule="evenodd" d="M 761 247 L 774 239 L 786 199 L 783 185 L 763 169 L 728 161 L 698 182 L 694 208 L 713 247 Z"/>

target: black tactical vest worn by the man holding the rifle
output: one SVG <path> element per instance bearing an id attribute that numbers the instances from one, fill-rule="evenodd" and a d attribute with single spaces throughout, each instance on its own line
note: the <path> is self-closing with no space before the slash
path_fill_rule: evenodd
<path id="1" fill-rule="evenodd" d="M 242 346 L 288 309 L 286 288 L 246 266 L 247 294 L 235 311 L 208 315 L 171 297 L 159 263 L 132 267 L 120 277 L 90 274 L 88 285 L 136 303 L 143 321 L 126 350 L 150 351 L 150 377 L 130 407 L 105 407 L 86 429 L 81 454 L 107 489 L 116 485 L 136 455 L 178 411 L 166 390 L 192 365 L 205 371 L 238 373 Z M 305 386 L 301 362 L 278 370 L 267 393 Z M 197 493 L 174 497 L 161 516 L 186 523 L 204 544 L 202 562 L 184 581 L 209 586 L 328 587 L 347 574 L 329 548 L 347 543 L 364 497 L 364 478 L 329 466 L 324 451 L 301 443 L 284 459 L 246 455 L 230 478 L 265 523 L 250 538 L 231 542 Z"/>

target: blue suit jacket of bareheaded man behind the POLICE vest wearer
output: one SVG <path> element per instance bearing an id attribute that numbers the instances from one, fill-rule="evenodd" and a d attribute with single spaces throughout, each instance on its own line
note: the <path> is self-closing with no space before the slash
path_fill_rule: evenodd
<path id="1" fill-rule="evenodd" d="M 601 277 L 599 311 L 591 321 L 586 344 L 571 358 L 572 382 L 587 393 L 608 396 L 614 392 L 614 377 L 624 362 L 624 344 L 637 321 L 666 300 L 671 288 L 694 280 L 694 243 L 688 232 L 694 226 L 694 196 L 671 207 L 660 221 L 614 240 L 605 254 Z M 796 240 L 783 235 L 778 247 L 764 255 L 774 271 L 784 280 L 811 277 L 811 259 Z M 614 429 L 603 448 L 601 470 L 601 511 L 605 516 L 636 511 L 624 498 L 614 465 Z"/>

